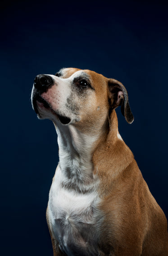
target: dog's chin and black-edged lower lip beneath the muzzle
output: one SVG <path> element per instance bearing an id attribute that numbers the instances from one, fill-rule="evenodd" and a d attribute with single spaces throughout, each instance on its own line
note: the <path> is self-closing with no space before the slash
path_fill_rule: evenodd
<path id="1" fill-rule="evenodd" d="M 33 108 L 39 119 L 51 119 L 52 121 L 54 121 L 54 119 L 59 119 L 59 121 L 64 125 L 71 122 L 69 117 L 58 114 L 57 111 L 54 111 L 51 106 L 43 100 L 36 100 L 36 103 L 33 104 Z"/>

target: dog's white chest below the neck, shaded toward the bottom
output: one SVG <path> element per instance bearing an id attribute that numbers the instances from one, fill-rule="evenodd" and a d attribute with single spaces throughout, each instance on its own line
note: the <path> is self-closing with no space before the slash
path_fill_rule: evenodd
<path id="1" fill-rule="evenodd" d="M 98 195 L 93 189 L 78 194 L 61 187 L 61 177 L 54 178 L 50 189 L 50 224 L 60 249 L 67 255 L 98 255 L 100 213 Z"/>

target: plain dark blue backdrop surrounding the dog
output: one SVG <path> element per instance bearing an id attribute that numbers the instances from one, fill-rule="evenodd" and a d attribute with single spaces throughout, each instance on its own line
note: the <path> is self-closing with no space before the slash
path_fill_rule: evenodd
<path id="1" fill-rule="evenodd" d="M 126 86 L 119 132 L 168 217 L 168 5 L 161 1 L 1 4 L 1 255 L 52 256 L 45 210 L 58 163 L 54 125 L 32 110 L 39 73 L 91 69 Z"/>

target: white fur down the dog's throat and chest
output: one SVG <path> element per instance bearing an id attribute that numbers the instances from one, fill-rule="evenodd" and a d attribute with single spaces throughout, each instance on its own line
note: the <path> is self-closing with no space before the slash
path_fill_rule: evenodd
<path id="1" fill-rule="evenodd" d="M 100 226 L 98 222 L 101 215 L 98 210 L 93 210 L 98 208 L 100 202 L 98 196 L 99 179 L 93 175 L 91 162 L 91 153 L 97 137 L 86 136 L 77 131 L 71 124 L 65 126 L 58 123 L 55 128 L 58 134 L 59 166 L 50 188 L 48 215 L 54 237 L 59 242 L 60 248 L 67 255 L 72 255 L 71 246 L 87 249 L 86 241 L 81 235 L 82 225 L 91 224 L 94 227 L 93 230 L 95 229 L 94 239 L 90 234 L 92 246 L 99 236 L 96 226 Z M 72 178 L 67 177 L 65 171 L 67 167 L 73 174 Z M 83 181 L 83 183 L 78 184 L 78 187 L 81 190 L 89 190 L 89 192 L 79 193 L 62 186 L 63 182 L 77 183 L 77 179 Z M 70 247 L 69 243 L 71 244 Z"/>

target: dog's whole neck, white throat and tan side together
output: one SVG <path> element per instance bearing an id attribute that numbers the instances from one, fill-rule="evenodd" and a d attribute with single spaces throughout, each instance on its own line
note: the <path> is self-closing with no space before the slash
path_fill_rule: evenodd
<path id="1" fill-rule="evenodd" d="M 59 168 L 63 175 L 63 186 L 77 192 L 91 191 L 95 179 L 102 176 L 114 180 L 133 160 L 133 155 L 118 133 L 115 111 L 106 119 L 97 133 L 85 133 L 75 126 L 55 124 L 59 145 Z M 117 150 L 116 150 L 117 149 Z M 110 163 L 106 158 L 110 154 Z M 116 163 L 116 157 L 120 161 Z M 106 169 L 104 170 L 104 166 Z M 113 166 L 113 169 L 111 169 Z"/>

